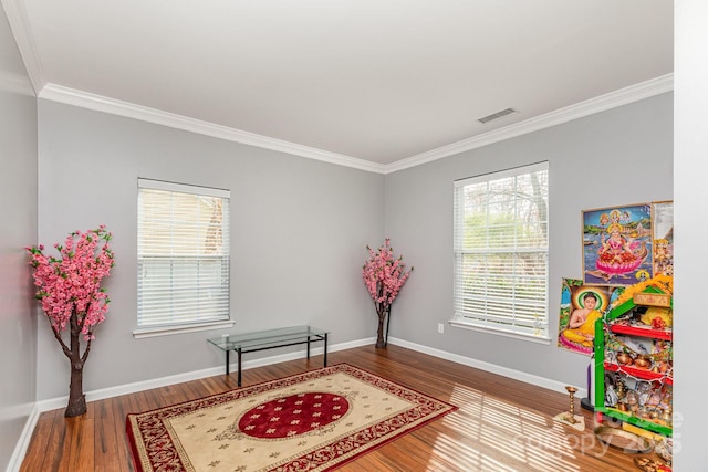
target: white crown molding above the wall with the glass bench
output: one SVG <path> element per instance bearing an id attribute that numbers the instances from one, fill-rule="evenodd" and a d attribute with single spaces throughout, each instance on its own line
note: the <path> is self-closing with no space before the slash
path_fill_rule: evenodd
<path id="1" fill-rule="evenodd" d="M 170 128 L 197 133 L 205 136 L 211 136 L 233 143 L 256 146 L 263 149 L 292 154 L 294 156 L 322 160 L 339 166 L 353 167 L 355 169 L 366 170 L 369 172 L 383 174 L 385 170 L 384 165 L 371 162 L 368 160 L 270 138 L 254 133 L 242 132 L 240 129 L 229 128 L 227 126 L 216 125 L 214 123 L 202 122 L 200 119 L 189 118 L 187 116 L 163 112 L 160 109 L 149 108 L 129 102 L 108 98 L 102 95 L 95 95 L 52 83 L 46 84 L 42 88 L 39 97 L 96 112 L 135 118 Z"/>

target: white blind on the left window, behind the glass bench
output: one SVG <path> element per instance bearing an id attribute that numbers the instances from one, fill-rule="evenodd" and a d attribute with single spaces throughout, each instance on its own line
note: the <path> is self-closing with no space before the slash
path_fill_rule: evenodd
<path id="1" fill-rule="evenodd" d="M 138 179 L 138 327 L 229 319 L 229 199 Z"/>

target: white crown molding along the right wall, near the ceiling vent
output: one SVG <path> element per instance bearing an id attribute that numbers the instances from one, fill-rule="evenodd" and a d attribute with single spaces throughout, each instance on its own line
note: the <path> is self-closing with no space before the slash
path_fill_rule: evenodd
<path id="1" fill-rule="evenodd" d="M 660 77 L 631 85 L 628 87 L 621 88 L 618 91 L 614 91 L 595 98 L 590 98 L 587 101 L 546 113 L 544 115 L 529 118 L 513 125 L 504 126 L 503 128 L 494 129 L 493 132 L 485 133 L 482 135 L 462 139 L 460 141 L 452 143 L 450 145 L 442 146 L 427 153 L 397 160 L 396 162 L 386 166 L 384 174 L 391 174 L 410 167 L 420 166 L 423 164 L 431 162 L 445 157 L 450 157 L 470 149 L 476 149 L 493 143 L 499 143 L 509 138 L 525 135 L 528 133 L 538 132 L 539 129 L 549 128 L 551 126 L 568 123 L 573 119 L 593 115 L 595 113 L 605 112 L 611 108 L 627 105 L 633 102 L 638 102 L 654 95 L 671 92 L 673 90 L 674 74 L 663 75 Z"/>

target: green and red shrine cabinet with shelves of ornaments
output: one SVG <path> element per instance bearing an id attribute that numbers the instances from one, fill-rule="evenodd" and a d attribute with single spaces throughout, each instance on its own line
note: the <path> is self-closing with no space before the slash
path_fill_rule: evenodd
<path id="1" fill-rule="evenodd" d="M 673 301 L 647 286 L 595 323 L 595 412 L 670 437 Z"/>

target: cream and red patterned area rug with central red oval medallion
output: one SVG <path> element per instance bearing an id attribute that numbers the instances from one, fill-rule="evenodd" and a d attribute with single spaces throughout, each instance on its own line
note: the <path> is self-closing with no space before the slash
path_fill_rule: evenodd
<path id="1" fill-rule="evenodd" d="M 138 472 L 330 471 L 457 407 L 337 364 L 127 416 Z"/>

